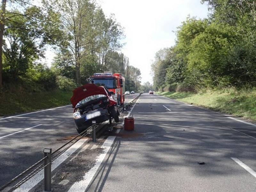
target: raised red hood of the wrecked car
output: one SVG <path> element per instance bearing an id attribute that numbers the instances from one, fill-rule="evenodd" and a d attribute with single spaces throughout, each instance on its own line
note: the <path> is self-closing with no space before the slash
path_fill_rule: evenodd
<path id="1" fill-rule="evenodd" d="M 81 87 L 77 87 L 76 89 L 73 90 L 73 96 L 70 99 L 73 108 L 76 107 L 76 104 L 79 101 L 83 100 L 86 97 L 92 96 L 92 95 L 108 96 L 108 93 L 106 92 L 104 87 L 97 86 L 95 84 L 85 84 Z"/>

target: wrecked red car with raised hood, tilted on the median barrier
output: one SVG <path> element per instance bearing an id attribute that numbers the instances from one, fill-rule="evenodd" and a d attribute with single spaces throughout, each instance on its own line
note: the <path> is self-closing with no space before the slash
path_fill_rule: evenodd
<path id="1" fill-rule="evenodd" d="M 74 121 L 78 133 L 92 126 L 92 121 L 102 123 L 114 118 L 119 122 L 119 110 L 117 102 L 104 86 L 85 84 L 73 90 L 70 101 L 74 108 Z"/>

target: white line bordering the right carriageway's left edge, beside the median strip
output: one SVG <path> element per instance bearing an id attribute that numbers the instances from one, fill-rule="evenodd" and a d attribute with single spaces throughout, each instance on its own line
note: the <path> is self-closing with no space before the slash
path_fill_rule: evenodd
<path id="1" fill-rule="evenodd" d="M 132 106 L 132 109 L 130 110 L 130 112 L 128 113 L 128 115 L 126 117 L 129 117 L 133 108 L 135 107 L 136 103 L 139 101 L 140 98 L 138 98 L 138 100 L 135 102 L 135 104 Z M 125 118 L 125 117 L 124 117 Z M 120 129 L 117 130 L 117 133 L 120 131 Z M 100 156 L 98 156 L 96 158 L 96 164 L 89 170 L 89 172 L 86 172 L 83 176 L 83 179 L 75 182 L 71 188 L 69 188 L 68 192 L 84 192 L 86 190 L 86 188 L 89 186 L 90 182 L 92 181 L 95 173 L 97 172 L 98 168 L 100 167 L 100 164 L 103 162 L 105 156 L 108 153 L 108 150 L 110 149 L 110 147 L 112 146 L 114 140 L 116 139 L 116 136 L 109 136 L 105 142 L 103 143 L 103 145 L 101 146 L 101 148 L 103 148 L 103 153 L 100 154 Z"/>

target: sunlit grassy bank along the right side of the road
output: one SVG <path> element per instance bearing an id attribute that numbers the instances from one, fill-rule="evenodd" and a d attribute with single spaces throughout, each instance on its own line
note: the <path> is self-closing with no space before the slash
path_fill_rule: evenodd
<path id="1" fill-rule="evenodd" d="M 256 121 L 256 88 L 192 92 L 156 92 L 172 99 Z"/>

